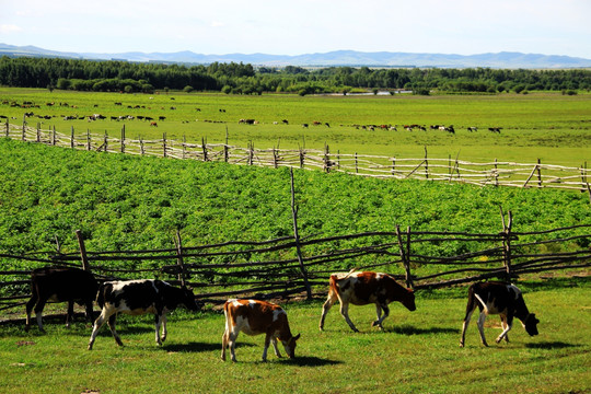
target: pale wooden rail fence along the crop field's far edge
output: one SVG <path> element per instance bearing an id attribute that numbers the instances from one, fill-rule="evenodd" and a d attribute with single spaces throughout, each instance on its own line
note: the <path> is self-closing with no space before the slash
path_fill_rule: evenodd
<path id="1" fill-rule="evenodd" d="M 588 192 L 589 170 L 587 162 L 579 167 L 536 163 L 494 162 L 473 163 L 452 159 L 428 158 L 404 159 L 385 155 L 346 154 L 331 152 L 329 147 L 317 149 L 255 149 L 229 146 L 228 143 L 200 143 L 167 139 L 166 135 L 158 140 L 128 139 L 125 126 L 119 137 L 85 132 L 70 134 L 44 130 L 38 124 L 31 127 L 23 125 L 4 125 L 4 136 L 23 141 L 40 142 L 71 149 L 85 149 L 102 152 L 118 152 L 161 158 L 193 159 L 199 161 L 224 161 L 233 164 L 259 166 L 289 166 L 300 169 L 320 169 L 325 172 L 345 172 L 362 176 L 396 179 L 426 179 L 448 183 L 466 183 L 478 186 L 513 186 L 513 187 L 552 187 Z"/>

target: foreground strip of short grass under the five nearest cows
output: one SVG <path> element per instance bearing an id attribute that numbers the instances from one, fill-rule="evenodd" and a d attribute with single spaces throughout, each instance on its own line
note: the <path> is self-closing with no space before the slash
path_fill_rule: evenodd
<path id="1" fill-rule="evenodd" d="M 370 327 L 374 308 L 351 306 L 360 328 L 352 333 L 335 305 L 325 332 L 317 329 L 322 301 L 283 303 L 292 332 L 301 333 L 294 360 L 269 352 L 262 363 L 263 336 L 241 334 L 237 363 L 222 362 L 223 315 L 175 312 L 169 339 L 158 348 L 151 316 L 121 316 L 118 348 L 103 327 L 88 351 L 90 327 L 66 329 L 47 323 L 46 335 L 21 326 L 0 331 L 0 391 L 3 393 L 236 392 L 236 393 L 586 393 L 591 391 L 591 331 L 588 279 L 518 283 L 540 335 L 519 322 L 511 343 L 494 344 L 499 320 L 487 320 L 491 346 L 480 345 L 475 320 L 459 347 L 465 288 L 417 299 L 417 311 L 392 305 L 385 332 Z M 426 294 L 425 294 L 426 296 Z M 285 351 L 282 351 L 285 355 Z"/>

